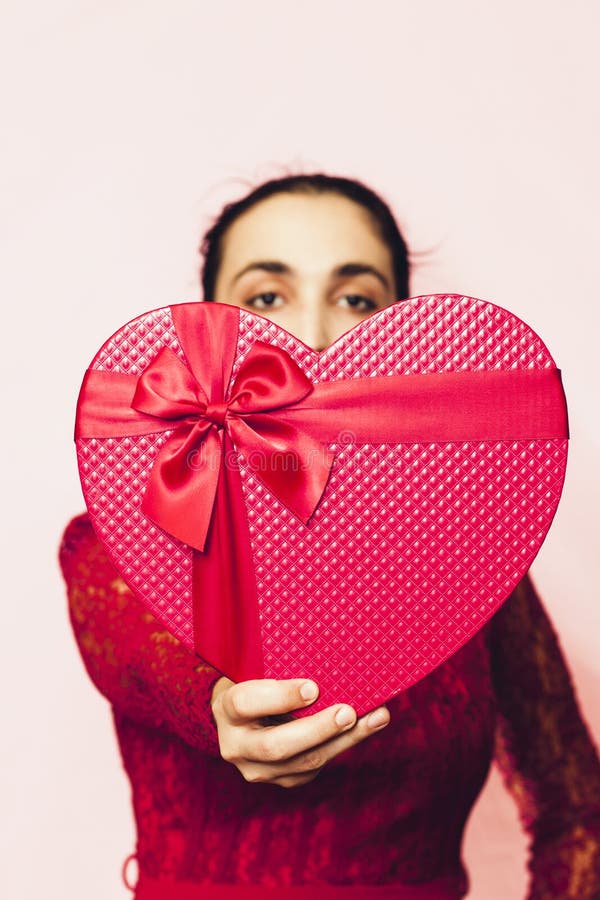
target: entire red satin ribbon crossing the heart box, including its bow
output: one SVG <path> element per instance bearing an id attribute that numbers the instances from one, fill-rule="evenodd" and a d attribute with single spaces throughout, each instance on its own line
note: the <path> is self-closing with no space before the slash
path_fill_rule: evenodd
<path id="1" fill-rule="evenodd" d="M 557 369 L 390 375 L 312 384 L 256 341 L 231 388 L 239 309 L 171 307 L 186 363 L 163 347 L 141 375 L 88 370 L 76 438 L 170 431 L 143 512 L 193 548 L 197 652 L 239 681 L 263 662 L 256 582 L 235 450 L 305 524 L 345 434 L 356 443 L 568 436 Z"/>

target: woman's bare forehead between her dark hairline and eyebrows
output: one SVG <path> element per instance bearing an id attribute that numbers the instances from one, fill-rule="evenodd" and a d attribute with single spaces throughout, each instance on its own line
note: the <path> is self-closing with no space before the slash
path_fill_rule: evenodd
<path id="1" fill-rule="evenodd" d="M 333 193 L 275 194 L 236 219 L 223 239 L 223 275 L 235 275 L 257 259 L 315 272 L 348 261 L 391 265 L 368 210 Z"/>

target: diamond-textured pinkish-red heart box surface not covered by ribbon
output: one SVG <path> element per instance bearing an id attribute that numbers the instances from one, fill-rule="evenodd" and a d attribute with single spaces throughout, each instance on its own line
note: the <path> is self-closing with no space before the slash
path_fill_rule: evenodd
<path id="1" fill-rule="evenodd" d="M 506 310 L 457 295 L 389 307 L 313 353 L 241 314 L 235 374 L 255 340 L 283 347 L 313 381 L 554 366 Z M 181 355 L 168 308 L 128 323 L 93 367 L 137 374 L 161 346 Z M 140 512 L 167 434 L 77 442 L 88 508 L 124 578 L 193 646 L 191 553 Z M 340 436 L 340 439 L 342 436 Z M 310 675 L 320 708 L 359 712 L 443 662 L 498 609 L 538 552 L 556 510 L 566 440 L 330 445 L 336 459 L 308 526 L 240 460 L 266 677 Z"/>

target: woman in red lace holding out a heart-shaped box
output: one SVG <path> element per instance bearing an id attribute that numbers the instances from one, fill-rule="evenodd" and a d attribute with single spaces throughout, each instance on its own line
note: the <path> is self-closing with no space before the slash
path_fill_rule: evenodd
<path id="1" fill-rule="evenodd" d="M 409 295 L 393 216 L 346 179 L 267 182 L 225 208 L 202 249 L 206 300 L 315 350 Z M 529 579 L 386 707 L 289 721 L 318 685 L 236 685 L 199 663 L 138 605 L 86 516 L 61 563 L 131 780 L 137 900 L 464 897 L 463 829 L 492 759 L 532 840 L 529 897 L 600 896 L 600 763 Z"/>

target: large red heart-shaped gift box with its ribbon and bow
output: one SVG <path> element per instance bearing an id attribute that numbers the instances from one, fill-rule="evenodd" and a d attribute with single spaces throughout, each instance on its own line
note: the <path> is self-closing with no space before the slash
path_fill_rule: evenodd
<path id="1" fill-rule="evenodd" d="M 316 353 L 262 316 L 128 322 L 82 385 L 77 457 L 115 566 L 235 681 L 359 714 L 427 675 L 529 568 L 567 456 L 560 373 L 510 312 L 436 294 Z"/>

